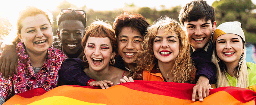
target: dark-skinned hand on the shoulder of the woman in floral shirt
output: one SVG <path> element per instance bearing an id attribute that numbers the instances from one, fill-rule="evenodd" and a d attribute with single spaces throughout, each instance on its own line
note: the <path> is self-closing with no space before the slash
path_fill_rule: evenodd
<path id="1" fill-rule="evenodd" d="M 13 73 L 16 74 L 18 72 L 17 64 L 18 56 L 16 46 L 12 44 L 5 45 L 0 56 L 0 72 L 6 80 L 9 78 L 9 75 L 12 78 Z"/>

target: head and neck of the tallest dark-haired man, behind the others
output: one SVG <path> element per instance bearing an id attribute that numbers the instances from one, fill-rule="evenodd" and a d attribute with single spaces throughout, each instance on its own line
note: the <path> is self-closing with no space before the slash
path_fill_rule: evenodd
<path id="1" fill-rule="evenodd" d="M 192 1 L 182 8 L 179 19 L 191 44 L 192 57 L 211 61 L 213 45 L 210 39 L 216 28 L 214 8 L 204 0 Z"/>

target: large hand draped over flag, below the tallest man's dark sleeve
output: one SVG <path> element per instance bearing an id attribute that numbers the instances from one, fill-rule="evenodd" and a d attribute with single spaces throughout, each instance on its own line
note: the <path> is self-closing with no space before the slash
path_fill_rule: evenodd
<path id="1" fill-rule="evenodd" d="M 203 98 L 209 96 L 211 85 L 208 84 L 209 79 L 206 76 L 200 76 L 196 85 L 193 87 L 192 101 L 203 101 Z"/>

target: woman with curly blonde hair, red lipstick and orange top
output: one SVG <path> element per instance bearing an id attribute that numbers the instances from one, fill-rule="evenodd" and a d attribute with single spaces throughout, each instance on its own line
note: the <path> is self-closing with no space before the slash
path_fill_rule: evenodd
<path id="1" fill-rule="evenodd" d="M 143 70 L 143 80 L 195 83 L 190 45 L 176 20 L 167 16 L 158 19 L 144 38 L 133 76 Z"/>

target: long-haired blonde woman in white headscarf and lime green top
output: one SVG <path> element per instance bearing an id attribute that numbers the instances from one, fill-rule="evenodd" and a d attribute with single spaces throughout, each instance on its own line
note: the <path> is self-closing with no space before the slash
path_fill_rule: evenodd
<path id="1" fill-rule="evenodd" d="M 235 86 L 256 91 L 256 64 L 245 61 L 245 35 L 240 22 L 220 24 L 212 37 L 216 87 Z"/>

